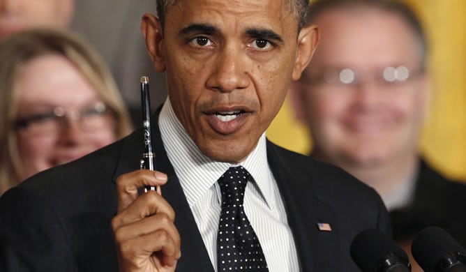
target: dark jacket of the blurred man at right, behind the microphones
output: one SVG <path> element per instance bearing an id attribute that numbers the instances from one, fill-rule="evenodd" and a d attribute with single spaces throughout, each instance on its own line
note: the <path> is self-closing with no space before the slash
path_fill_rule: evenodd
<path id="1" fill-rule="evenodd" d="M 466 184 L 446 179 L 421 159 L 412 203 L 391 211 L 393 238 L 412 239 L 429 226 L 439 226 L 466 247 Z"/>

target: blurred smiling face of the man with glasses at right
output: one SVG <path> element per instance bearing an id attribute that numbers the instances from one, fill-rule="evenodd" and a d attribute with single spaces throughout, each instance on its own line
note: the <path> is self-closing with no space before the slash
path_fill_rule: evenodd
<path id="1" fill-rule="evenodd" d="M 332 10 L 316 24 L 320 45 L 303 72 L 307 80 L 296 84 L 316 157 L 360 167 L 415 154 L 428 84 L 419 72 L 412 30 L 399 17 L 377 10 Z M 399 66 L 409 69 L 408 80 L 383 80 L 384 68 Z M 339 76 L 352 78 L 345 68 L 359 82 L 341 83 Z M 397 71 L 403 78 L 405 68 Z"/>

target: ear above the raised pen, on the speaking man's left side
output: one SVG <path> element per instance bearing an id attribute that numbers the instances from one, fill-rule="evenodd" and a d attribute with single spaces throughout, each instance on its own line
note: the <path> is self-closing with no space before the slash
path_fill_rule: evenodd
<path id="1" fill-rule="evenodd" d="M 151 57 L 153 67 L 157 72 L 165 72 L 165 59 L 163 58 L 163 29 L 160 21 L 153 15 L 142 15 L 141 30 L 146 40 L 147 52 Z"/>

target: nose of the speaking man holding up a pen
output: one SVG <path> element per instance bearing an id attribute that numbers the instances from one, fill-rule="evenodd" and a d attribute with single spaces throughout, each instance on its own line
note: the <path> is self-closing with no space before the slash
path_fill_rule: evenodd
<path id="1" fill-rule="evenodd" d="M 243 50 L 225 47 L 213 61 L 212 73 L 206 87 L 222 92 L 245 89 L 250 82 L 246 62 L 247 56 Z"/>

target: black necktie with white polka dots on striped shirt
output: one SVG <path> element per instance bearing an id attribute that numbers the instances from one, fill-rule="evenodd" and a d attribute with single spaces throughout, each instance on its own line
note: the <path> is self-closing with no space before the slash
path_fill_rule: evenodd
<path id="1" fill-rule="evenodd" d="M 222 192 L 222 211 L 218 224 L 218 272 L 269 271 L 259 240 L 243 209 L 246 183 L 253 177 L 241 166 L 218 179 Z"/>

